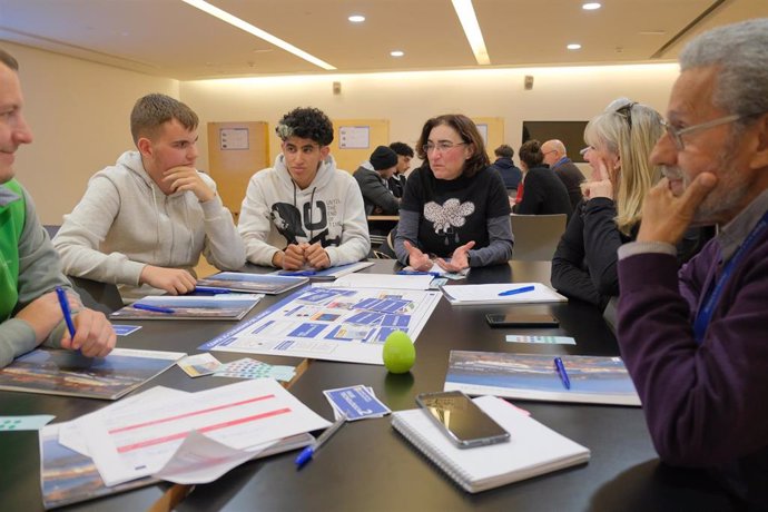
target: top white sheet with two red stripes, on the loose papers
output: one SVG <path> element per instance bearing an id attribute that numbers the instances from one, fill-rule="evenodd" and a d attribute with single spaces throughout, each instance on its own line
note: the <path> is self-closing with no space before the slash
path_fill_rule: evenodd
<path id="1" fill-rule="evenodd" d="M 97 414 L 82 431 L 101 479 L 115 485 L 159 471 L 193 430 L 242 450 L 328 425 L 277 382 L 259 378 Z"/>

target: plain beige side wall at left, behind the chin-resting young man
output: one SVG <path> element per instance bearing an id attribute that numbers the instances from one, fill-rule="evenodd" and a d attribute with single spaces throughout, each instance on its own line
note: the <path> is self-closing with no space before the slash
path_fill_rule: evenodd
<path id="1" fill-rule="evenodd" d="M 35 140 L 17 152 L 16 175 L 43 224 L 61 224 L 88 178 L 131 149 L 129 115 L 148 92 L 178 97 L 178 81 L 0 42 L 19 60 L 24 115 Z"/>

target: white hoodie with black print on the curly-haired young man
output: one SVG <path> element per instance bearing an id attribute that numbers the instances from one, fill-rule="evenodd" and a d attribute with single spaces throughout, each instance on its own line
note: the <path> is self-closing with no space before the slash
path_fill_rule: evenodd
<path id="1" fill-rule="evenodd" d="M 331 266 L 360 262 L 371 249 L 360 187 L 347 171 L 336 169 L 331 155 L 304 190 L 278 155 L 274 167 L 250 178 L 237 228 L 248 262 L 256 265 L 272 266 L 275 253 L 302 242 L 319 242 Z"/>

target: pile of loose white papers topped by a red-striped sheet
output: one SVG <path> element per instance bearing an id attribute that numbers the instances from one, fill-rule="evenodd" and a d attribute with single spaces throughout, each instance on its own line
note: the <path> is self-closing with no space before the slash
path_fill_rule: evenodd
<path id="1" fill-rule="evenodd" d="M 168 480 L 191 482 L 179 470 L 187 467 L 198 482 L 209 481 L 244 460 L 309 444 L 312 436 L 295 436 L 328 425 L 277 382 L 260 378 L 197 393 L 154 388 L 50 426 L 59 429 L 61 445 L 91 457 L 104 484 L 111 486 L 150 475 L 166 479 L 167 464 L 177 479 Z M 193 432 L 203 435 L 185 443 Z M 239 455 L 225 457 L 232 465 L 223 470 L 211 442 Z M 177 453 L 183 443 L 184 452 Z M 178 464 L 179 457 L 186 462 Z"/>

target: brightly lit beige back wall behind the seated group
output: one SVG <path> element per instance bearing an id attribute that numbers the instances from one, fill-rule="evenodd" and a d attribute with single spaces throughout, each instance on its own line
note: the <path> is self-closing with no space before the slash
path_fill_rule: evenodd
<path id="1" fill-rule="evenodd" d="M 677 72 L 677 65 L 666 63 L 199 80 L 181 82 L 180 95 L 204 124 L 264 120 L 274 127 L 288 110 L 313 106 L 331 118 L 390 119 L 391 139 L 411 146 L 434 115 L 501 117 L 506 142 L 516 150 L 523 120 L 588 120 L 620 96 L 663 112 Z M 525 75 L 534 76 L 530 91 L 523 89 Z M 334 81 L 342 83 L 341 95 L 333 95 Z M 278 141 L 269 132 L 274 157 Z"/>

